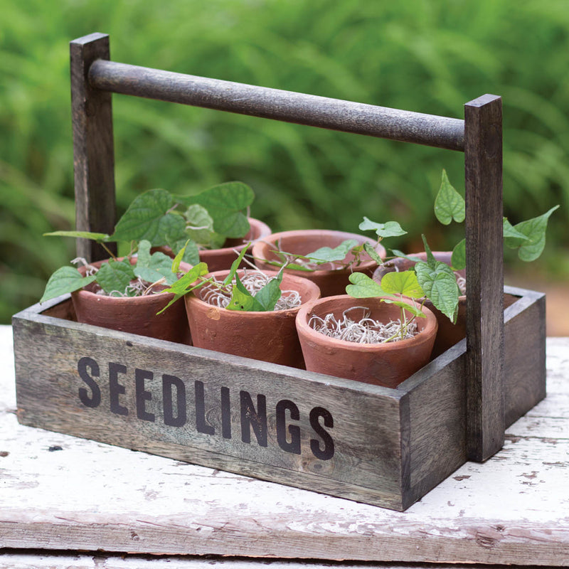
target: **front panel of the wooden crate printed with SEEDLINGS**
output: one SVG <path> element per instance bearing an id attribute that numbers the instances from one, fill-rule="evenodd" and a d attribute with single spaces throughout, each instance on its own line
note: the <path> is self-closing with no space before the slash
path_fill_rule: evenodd
<path id="1" fill-rule="evenodd" d="M 401 509 L 397 397 L 82 326 L 14 319 L 24 425 Z"/>

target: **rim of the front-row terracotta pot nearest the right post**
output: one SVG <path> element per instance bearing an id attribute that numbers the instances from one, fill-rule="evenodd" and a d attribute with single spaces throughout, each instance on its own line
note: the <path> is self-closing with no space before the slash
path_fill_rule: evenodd
<path id="1" fill-rule="evenodd" d="M 336 300 L 344 300 L 344 299 L 351 299 L 354 301 L 354 304 L 357 306 L 358 304 L 365 305 L 366 302 L 376 302 L 378 297 L 372 297 L 368 299 L 357 299 L 350 297 L 349 294 L 338 294 L 334 297 L 324 297 L 321 299 L 316 299 L 311 302 L 307 302 L 307 304 L 303 304 L 300 307 L 300 310 L 297 314 L 297 329 L 299 334 L 302 333 L 304 336 L 307 336 L 309 341 L 314 341 L 316 344 L 329 344 L 332 348 L 336 349 L 344 349 L 344 350 L 352 350 L 352 351 L 390 351 L 390 350 L 404 350 L 410 346 L 416 346 L 418 344 L 423 344 L 429 341 L 431 335 L 437 334 L 438 329 L 438 322 L 437 317 L 435 314 L 428 309 L 427 307 L 422 307 L 423 312 L 425 312 L 425 316 L 427 317 L 427 321 L 425 327 L 418 333 L 413 336 L 413 338 L 405 339 L 405 340 L 398 340 L 394 342 L 387 342 L 381 344 L 358 344 L 357 342 L 350 342 L 347 340 L 339 340 L 337 338 L 331 338 L 330 336 L 325 336 L 324 334 L 320 334 L 314 330 L 311 326 L 308 325 L 309 313 L 312 311 L 314 306 L 317 304 L 325 304 L 331 303 L 334 304 Z M 403 299 L 404 302 L 408 304 L 413 304 L 406 299 Z M 323 340 L 324 339 L 324 340 Z"/>

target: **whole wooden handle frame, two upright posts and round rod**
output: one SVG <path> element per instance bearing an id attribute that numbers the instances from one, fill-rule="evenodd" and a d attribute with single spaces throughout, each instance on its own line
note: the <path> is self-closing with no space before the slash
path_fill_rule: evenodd
<path id="1" fill-rule="evenodd" d="M 504 443 L 501 99 L 468 102 L 464 121 L 111 62 L 109 38 L 71 42 L 77 228 L 111 233 L 115 179 L 111 92 L 464 150 L 467 240 L 467 454 Z M 81 241 L 81 240 L 80 240 Z M 89 260 L 102 251 L 85 242 Z"/>

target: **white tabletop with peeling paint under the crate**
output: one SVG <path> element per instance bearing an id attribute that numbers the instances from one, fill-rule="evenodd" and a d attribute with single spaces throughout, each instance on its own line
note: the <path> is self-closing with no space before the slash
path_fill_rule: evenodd
<path id="1" fill-rule="evenodd" d="M 13 362 L 0 326 L 0 569 L 569 566 L 569 339 L 504 449 L 403 513 L 23 427 Z"/>

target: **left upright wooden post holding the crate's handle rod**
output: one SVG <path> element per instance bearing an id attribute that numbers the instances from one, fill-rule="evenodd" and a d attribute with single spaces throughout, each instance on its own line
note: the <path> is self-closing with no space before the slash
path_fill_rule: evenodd
<path id="1" fill-rule="evenodd" d="M 70 43 L 75 224 L 81 231 L 112 234 L 116 211 L 111 94 L 91 87 L 87 80 L 92 62 L 109 58 L 106 34 L 92 33 Z M 109 256 L 85 239 L 78 240 L 77 252 L 90 261 Z"/>

